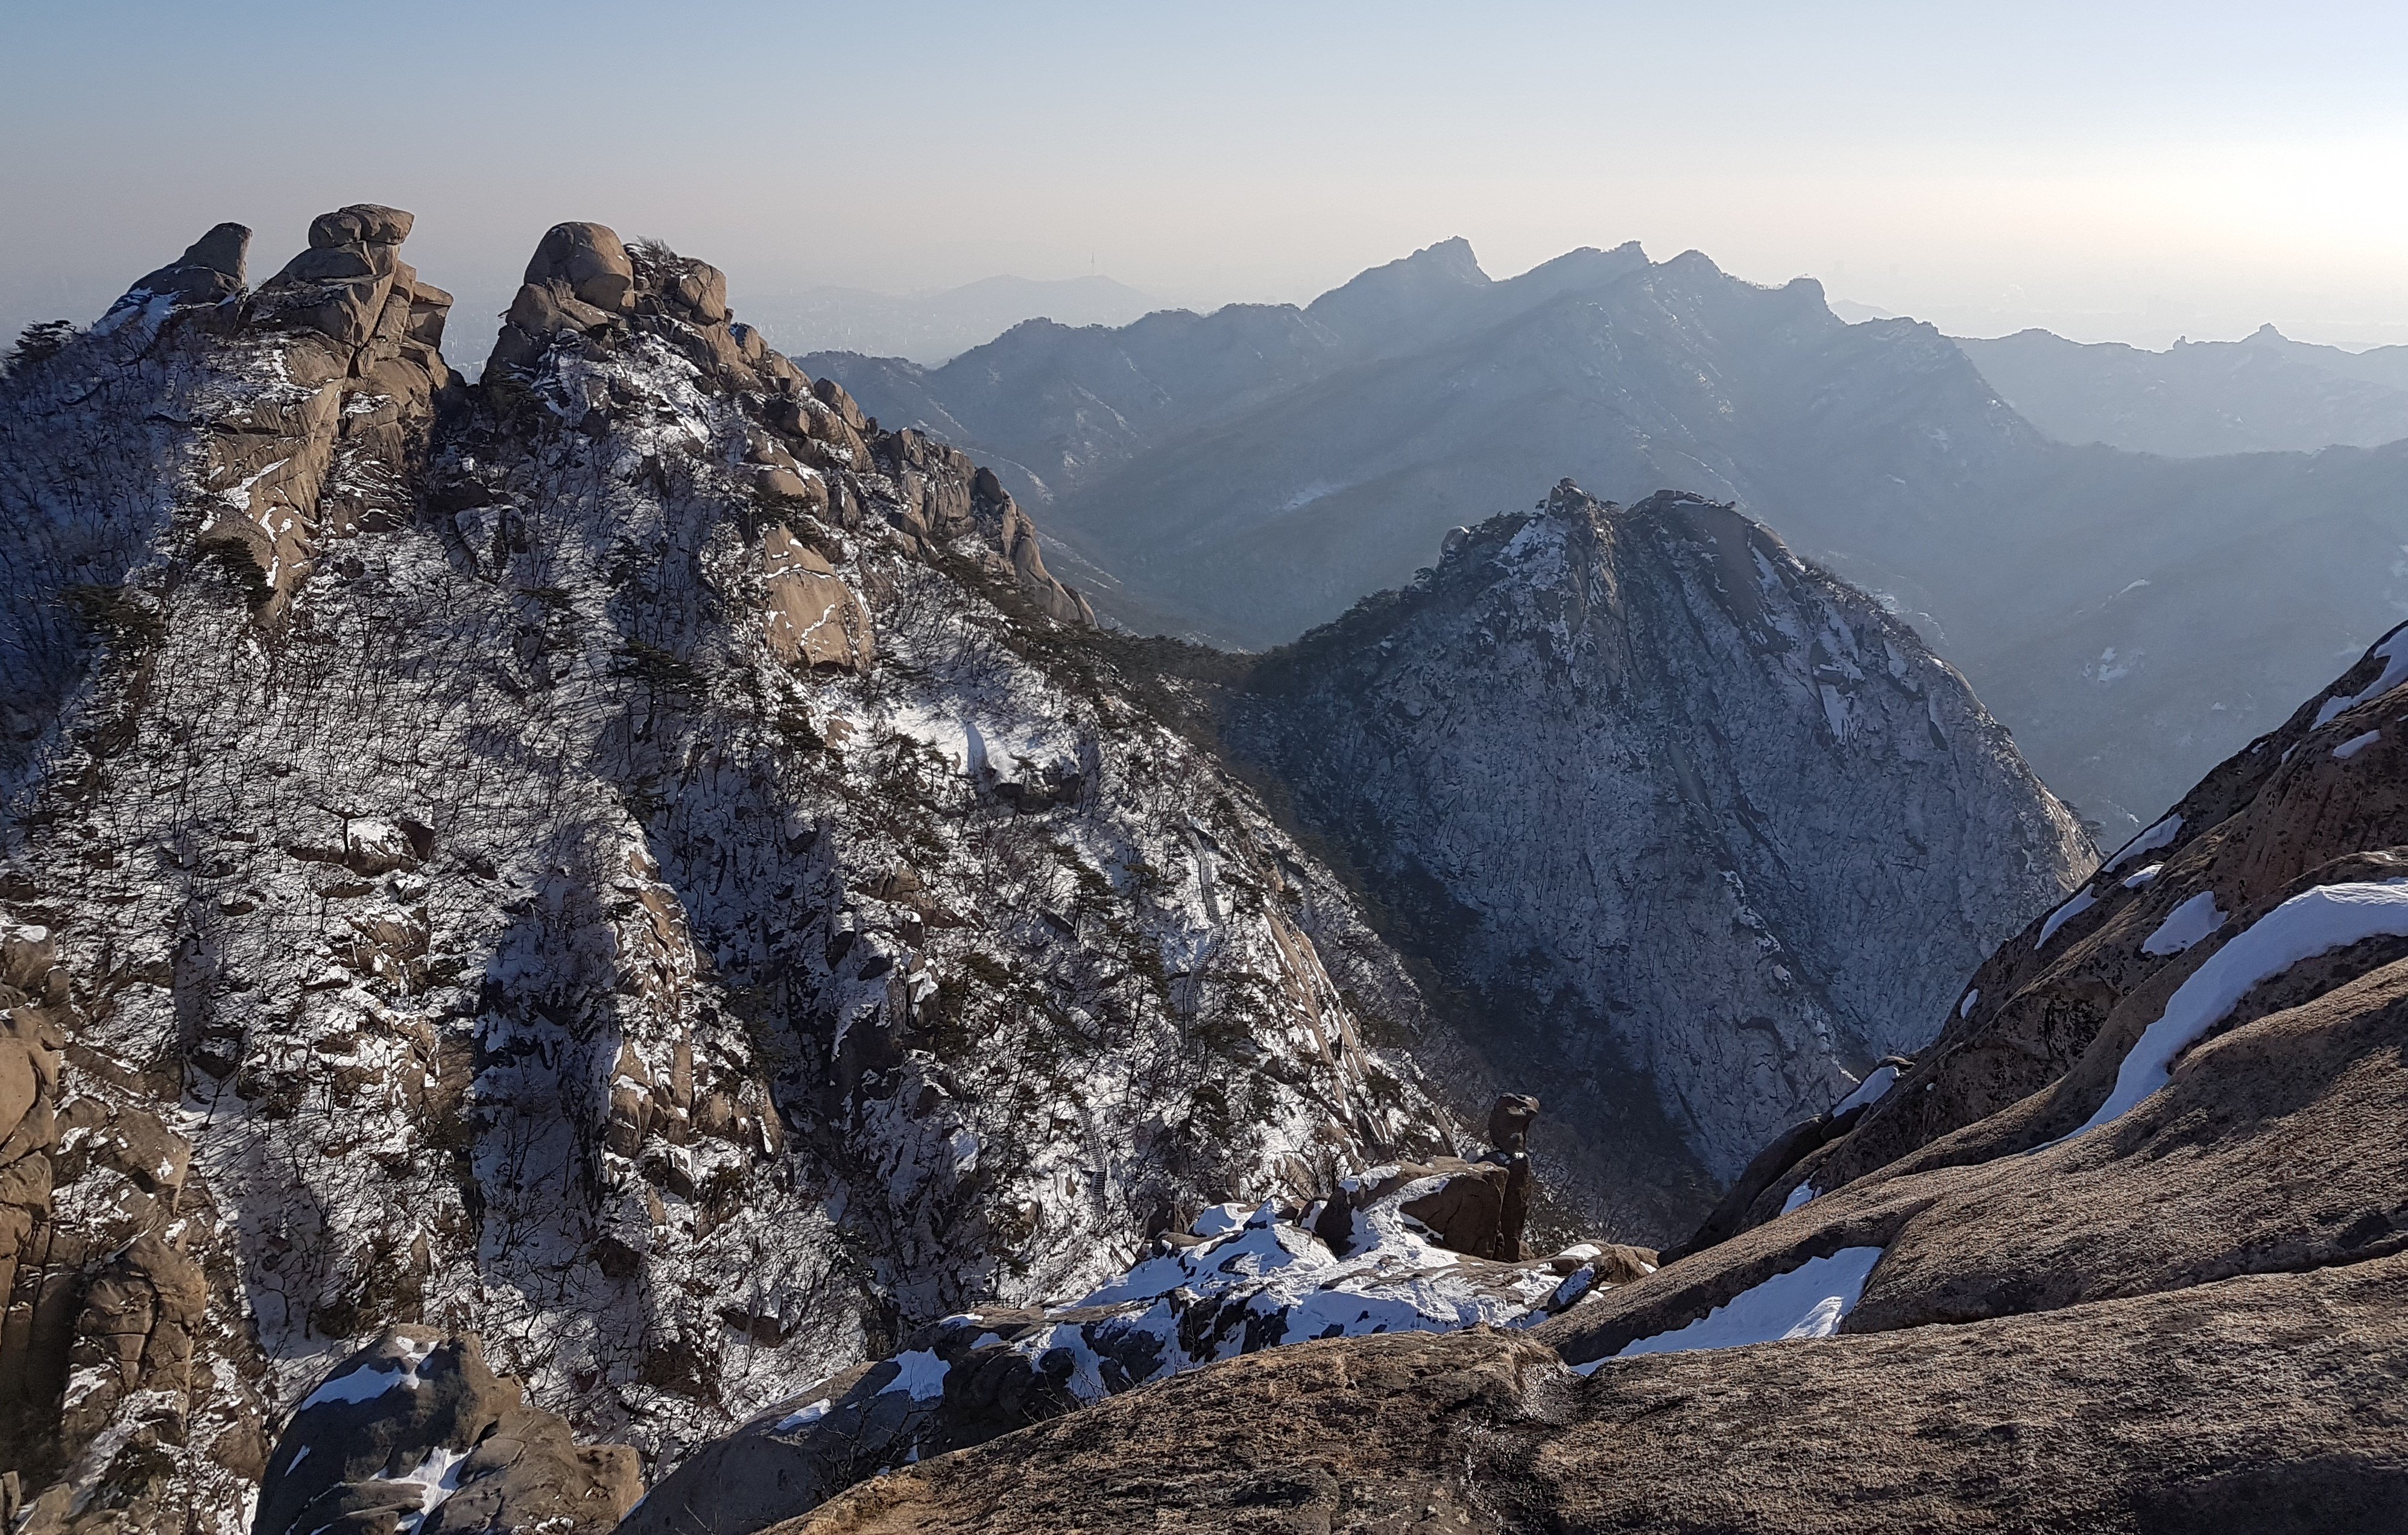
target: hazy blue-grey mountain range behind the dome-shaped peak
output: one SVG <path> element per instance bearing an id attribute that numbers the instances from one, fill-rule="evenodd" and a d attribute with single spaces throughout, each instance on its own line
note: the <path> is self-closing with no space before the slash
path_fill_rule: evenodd
<path id="1" fill-rule="evenodd" d="M 804 361 L 995 463 L 1108 614 L 1245 646 L 1565 475 L 1731 499 L 1914 622 L 2109 836 L 2408 612 L 2408 448 L 2059 443 L 1929 325 L 1698 253 L 1491 282 L 1447 241 L 1308 308 Z"/>

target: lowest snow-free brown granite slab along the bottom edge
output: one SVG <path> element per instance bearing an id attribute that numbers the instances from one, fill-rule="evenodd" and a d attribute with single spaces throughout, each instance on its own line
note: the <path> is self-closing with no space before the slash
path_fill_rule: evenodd
<path id="1" fill-rule="evenodd" d="M 1317 1342 L 857 1487 L 778 1535 L 2396 1530 L 2408 1258 L 1582 1381 Z M 1170 1448 L 1175 1446 L 1175 1451 Z"/>

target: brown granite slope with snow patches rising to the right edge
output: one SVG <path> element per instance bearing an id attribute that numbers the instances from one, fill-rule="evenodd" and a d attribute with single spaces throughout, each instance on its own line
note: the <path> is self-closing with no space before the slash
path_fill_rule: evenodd
<path id="1" fill-rule="evenodd" d="M 1238 1359 L 780 1530 L 2401 1528 L 2403 658 L 2003 945 L 1736 1234 L 1519 1340 Z"/>

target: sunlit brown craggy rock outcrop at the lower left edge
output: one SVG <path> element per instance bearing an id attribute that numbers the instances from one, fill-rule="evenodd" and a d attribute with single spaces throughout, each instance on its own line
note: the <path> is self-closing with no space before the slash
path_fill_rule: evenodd
<path id="1" fill-rule="evenodd" d="M 183 1113 L 79 1048 L 77 990 L 58 935 L 0 918 L 0 1513 L 231 1533 L 272 1410 L 241 1280 Z"/>

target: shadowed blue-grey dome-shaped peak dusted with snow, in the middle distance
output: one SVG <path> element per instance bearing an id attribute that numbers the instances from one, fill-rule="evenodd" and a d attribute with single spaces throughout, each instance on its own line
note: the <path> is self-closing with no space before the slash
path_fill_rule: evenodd
<path id="1" fill-rule="evenodd" d="M 1926 1043 L 2090 858 L 1912 629 L 1695 496 L 1565 482 L 1457 530 L 1233 713 L 1510 1075 L 1575 1084 L 1548 1096 L 1609 1159 L 1599 1215 L 1664 1236 L 1702 1200 L 1662 1198 L 1649 1135 L 1731 1178 Z"/>

